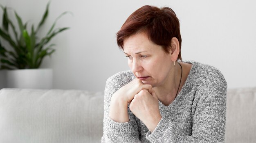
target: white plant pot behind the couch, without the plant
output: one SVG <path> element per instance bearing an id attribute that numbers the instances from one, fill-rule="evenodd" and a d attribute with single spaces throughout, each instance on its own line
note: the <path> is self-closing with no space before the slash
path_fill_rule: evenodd
<path id="1" fill-rule="evenodd" d="M 6 88 L 52 89 L 52 69 L 14 69 L 5 71 Z"/>

